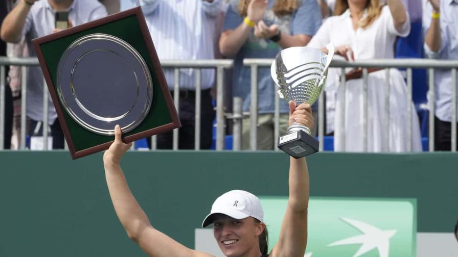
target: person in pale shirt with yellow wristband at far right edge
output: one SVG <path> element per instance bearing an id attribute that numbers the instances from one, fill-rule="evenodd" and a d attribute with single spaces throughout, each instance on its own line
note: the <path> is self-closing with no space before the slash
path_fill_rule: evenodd
<path id="1" fill-rule="evenodd" d="M 458 1 L 430 0 L 425 9 L 425 54 L 434 59 L 458 59 Z M 429 22 L 428 22 L 429 20 Z M 452 85 L 450 70 L 434 69 L 434 149 L 451 149 Z M 454 96 L 457 97 L 457 96 Z M 432 100 L 432 99 L 430 99 Z M 457 108 L 458 110 L 458 108 Z"/>

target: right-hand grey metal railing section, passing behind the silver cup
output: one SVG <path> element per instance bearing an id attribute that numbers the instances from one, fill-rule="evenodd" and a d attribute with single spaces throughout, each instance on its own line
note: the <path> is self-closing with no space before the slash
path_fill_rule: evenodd
<path id="1" fill-rule="evenodd" d="M 255 150 L 257 148 L 257 120 L 258 120 L 258 113 L 257 113 L 257 72 L 259 68 L 268 68 L 272 64 L 273 59 L 245 59 L 243 60 L 243 64 L 245 66 L 249 66 L 251 70 L 251 109 L 250 109 L 250 127 L 251 127 L 251 134 L 250 134 L 250 149 Z M 406 68 L 407 74 L 407 102 L 410 103 L 412 101 L 412 69 L 413 68 L 426 68 L 428 69 L 429 74 L 429 151 L 434 150 L 434 69 L 450 69 L 452 73 L 452 85 L 456 85 L 456 69 L 458 68 L 458 61 L 456 60 L 431 60 L 431 59 L 372 59 L 372 60 L 365 60 L 365 61 L 354 61 L 354 62 L 346 62 L 341 60 L 333 60 L 331 62 L 331 67 L 341 68 L 341 78 L 340 78 L 340 87 L 346 86 L 346 77 L 345 77 L 345 68 L 353 67 L 362 67 L 363 75 L 363 101 L 362 101 L 362 139 L 363 139 L 363 149 L 367 151 L 367 135 L 368 135 L 368 68 L 385 68 L 386 70 L 386 87 L 385 87 L 385 111 L 390 113 L 390 71 L 388 68 Z M 279 133 L 279 105 L 277 104 L 278 101 L 278 94 L 275 96 L 275 115 L 274 115 L 274 123 L 276 124 L 274 127 L 274 140 L 275 144 L 277 143 L 277 137 Z M 451 94 L 451 102 L 452 102 L 452 121 L 451 121 L 451 150 L 456 151 L 456 86 L 452 86 L 452 94 Z M 339 108 L 345 108 L 345 101 L 342 101 L 342 106 Z M 412 144 L 412 116 L 411 116 L 411 105 L 407 105 L 407 114 L 408 114 L 408 121 L 407 121 L 407 140 L 408 140 L 408 149 L 411 150 Z M 324 94 L 320 94 L 319 96 L 319 105 L 318 105 L 318 117 L 324 117 Z M 343 112 L 342 112 L 343 113 Z M 389 122 L 386 122 L 386 130 L 385 133 L 389 133 Z M 323 150 L 324 146 L 324 119 L 318 119 L 318 141 L 319 141 L 319 150 Z M 345 135 L 345 127 L 341 127 L 341 130 L 344 132 Z M 342 138 L 345 138 L 342 136 Z M 387 140 L 390 140 L 389 134 L 386 136 Z M 388 141 L 389 142 L 389 141 Z M 345 141 L 341 142 L 345 148 Z"/>

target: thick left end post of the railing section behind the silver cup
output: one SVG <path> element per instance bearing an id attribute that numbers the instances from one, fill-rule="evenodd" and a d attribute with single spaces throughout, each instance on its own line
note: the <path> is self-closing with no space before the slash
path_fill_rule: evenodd
<path id="1" fill-rule="evenodd" d="M 251 106 L 249 145 L 251 150 L 257 148 L 258 137 L 258 65 L 251 65 Z"/>

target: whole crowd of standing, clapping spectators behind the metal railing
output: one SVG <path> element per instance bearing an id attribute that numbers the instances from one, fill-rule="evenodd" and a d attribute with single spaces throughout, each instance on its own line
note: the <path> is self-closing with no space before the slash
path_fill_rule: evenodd
<path id="1" fill-rule="evenodd" d="M 125 0 L 127 1 L 127 0 Z M 274 58 L 284 48 L 310 46 L 324 48 L 332 42 L 336 58 L 352 60 L 393 59 L 395 42 L 422 24 L 427 58 L 458 59 L 458 0 L 128 0 L 141 6 L 160 60 L 234 59 L 225 87 L 243 99 L 243 111 L 250 109 L 250 70 L 245 58 Z M 14 3 L 16 2 L 16 3 Z M 99 3 L 100 2 L 100 3 Z M 58 31 L 54 14 L 68 12 L 68 24 L 79 25 L 120 11 L 119 0 L 6 0 L 0 4 L 2 27 L 0 55 L 35 56 L 31 40 Z M 10 42 L 8 47 L 6 42 Z M 8 51 L 7 51 L 8 48 Z M 325 49 L 323 49 L 325 50 Z M 326 134 L 333 135 L 337 151 L 362 151 L 361 69 L 346 70 L 346 87 L 339 87 L 341 69 L 330 69 L 326 94 Z M 5 148 L 19 144 L 17 119 L 20 113 L 20 68 L 7 70 Z M 179 69 L 179 148 L 194 148 L 195 74 Z M 165 70 L 174 95 L 173 70 Z M 63 135 L 50 100 L 49 120 L 43 122 L 43 78 L 38 67 L 28 69 L 28 135 L 40 136 L 42 124 L 50 126 L 53 148 L 63 148 Z M 215 72 L 202 70 L 200 148 L 212 143 L 215 117 L 212 94 Z M 413 131 L 411 149 L 421 151 L 419 119 L 413 102 L 407 101 L 405 78 L 390 69 L 390 115 L 384 102 L 385 72 L 370 69 L 368 75 L 368 142 L 371 152 L 401 152 L 410 149 L 407 137 L 407 106 L 411 106 Z M 450 150 L 451 71 L 434 71 L 434 141 L 436 150 Z M 269 69 L 258 73 L 258 149 L 273 149 L 274 94 L 277 88 Z M 19 99 L 19 100 L 17 100 Z M 3 104 L 3 103 L 1 103 Z M 341 108 L 345 106 L 345 110 Z M 288 124 L 288 105 L 280 104 L 280 134 Z M 13 118 L 14 117 L 14 118 Z M 249 146 L 249 117 L 243 118 L 242 148 Z M 14 124 L 14 125 L 13 125 Z M 345 127 L 345 134 L 342 128 Z M 389 127 L 388 133 L 385 132 Z M 15 135 L 15 136 L 12 136 Z M 387 140 L 386 137 L 390 137 Z M 12 138 L 12 141 L 11 141 Z M 151 147 L 151 142 L 149 142 Z M 172 147 L 172 133 L 158 135 L 157 148 Z"/>

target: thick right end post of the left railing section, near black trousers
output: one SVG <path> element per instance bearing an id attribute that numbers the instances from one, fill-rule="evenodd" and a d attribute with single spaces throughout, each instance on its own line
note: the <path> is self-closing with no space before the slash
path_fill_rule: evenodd
<path id="1" fill-rule="evenodd" d="M 216 68 L 216 150 L 224 149 L 224 70 L 222 66 Z"/>

